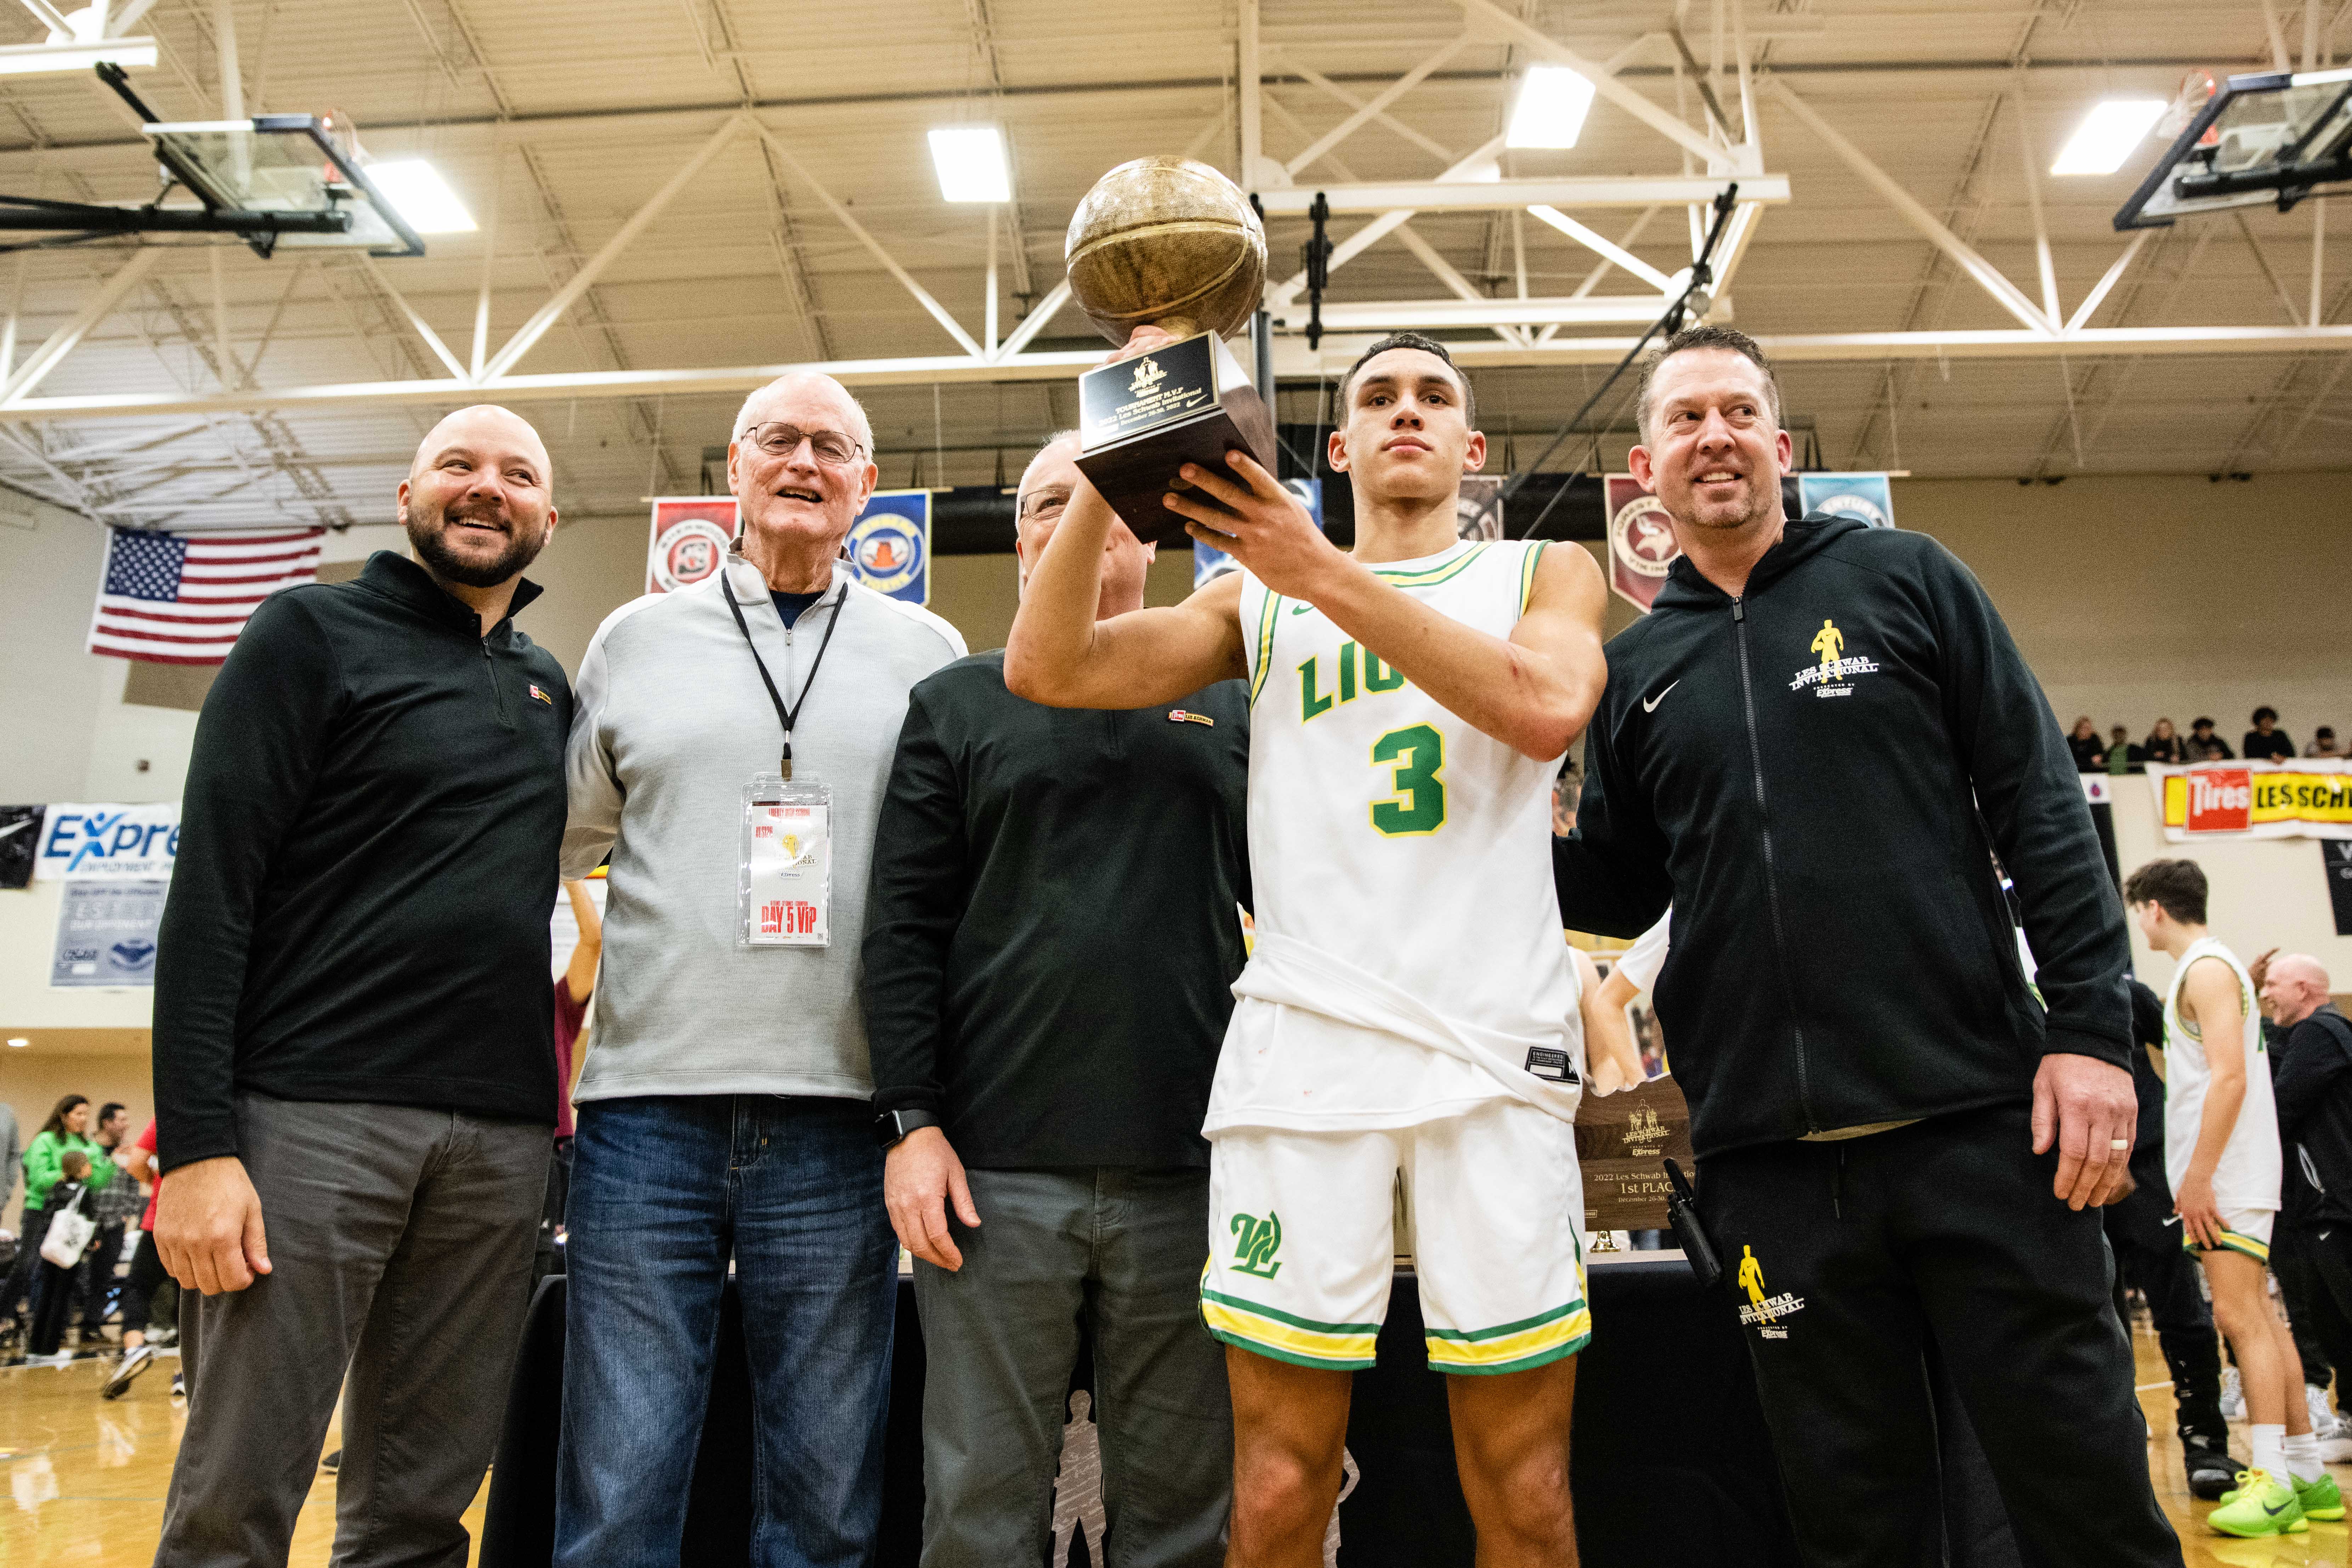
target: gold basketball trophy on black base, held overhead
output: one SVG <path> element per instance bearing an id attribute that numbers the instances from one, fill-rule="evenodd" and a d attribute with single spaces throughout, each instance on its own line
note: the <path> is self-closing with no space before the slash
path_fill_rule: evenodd
<path id="1" fill-rule="evenodd" d="M 1275 473 L 1275 416 L 1225 348 L 1265 292 L 1265 226 L 1242 190 L 1190 158 L 1138 158 L 1094 181 L 1063 247 L 1070 294 L 1117 346 L 1136 327 L 1176 334 L 1077 378 L 1077 468 L 1136 538 L 1183 536 L 1162 505 L 1197 463 L 1228 451 Z"/>

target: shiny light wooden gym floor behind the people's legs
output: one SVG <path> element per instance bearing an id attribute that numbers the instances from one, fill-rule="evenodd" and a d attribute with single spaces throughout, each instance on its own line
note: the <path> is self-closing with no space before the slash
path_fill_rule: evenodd
<path id="1" fill-rule="evenodd" d="M 2133 1335 L 2140 1368 L 2140 1406 L 2154 1434 L 2147 1469 L 2166 1516 L 2180 1530 L 2190 1568 L 2321 1566 L 2352 1568 L 2352 1530 L 2314 1523 L 2310 1535 L 2284 1540 L 2225 1540 L 2199 1521 L 2209 1502 L 2190 1497 L 2180 1479 L 2180 1443 L 2173 1439 L 2173 1389 L 2145 1328 Z M 172 1399 L 176 1356 L 158 1356 L 132 1392 L 108 1403 L 99 1399 L 103 1363 L 82 1359 L 66 1368 L 0 1368 L 0 1563 L 52 1568 L 54 1563 L 136 1566 L 155 1554 L 162 1497 L 172 1481 L 183 1413 Z M 339 1443 L 329 1429 L 327 1448 Z M 2244 1458 L 2244 1427 L 2232 1450 Z M 2352 1465 L 2336 1479 L 2352 1490 Z M 480 1530 L 482 1500 L 475 1497 L 466 1528 Z M 294 1568 L 325 1568 L 334 1540 L 334 1476 L 320 1472 L 294 1530 Z"/>

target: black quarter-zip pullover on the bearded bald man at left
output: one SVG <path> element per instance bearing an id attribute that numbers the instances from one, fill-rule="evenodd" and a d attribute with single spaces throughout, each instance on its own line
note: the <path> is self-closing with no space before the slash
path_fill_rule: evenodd
<path id="1" fill-rule="evenodd" d="M 548 917 L 572 686 L 379 550 L 270 595 L 205 696 L 155 938 L 165 1171 L 230 1095 L 555 1121 Z"/>

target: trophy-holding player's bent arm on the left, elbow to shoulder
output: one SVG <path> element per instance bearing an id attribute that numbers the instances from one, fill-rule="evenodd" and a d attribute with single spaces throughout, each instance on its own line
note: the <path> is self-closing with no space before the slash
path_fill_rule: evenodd
<path id="1" fill-rule="evenodd" d="M 1240 574 L 1176 607 L 1094 618 L 1112 520 L 1091 484 L 1070 491 L 1004 644 L 1011 693 L 1047 708 L 1148 708 L 1247 675 Z"/>

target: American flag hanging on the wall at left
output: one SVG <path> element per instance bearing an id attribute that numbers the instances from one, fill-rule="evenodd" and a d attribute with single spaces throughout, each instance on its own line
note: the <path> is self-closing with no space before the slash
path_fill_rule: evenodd
<path id="1" fill-rule="evenodd" d="M 89 651 L 160 665 L 216 665 L 247 616 L 318 576 L 325 529 L 146 534 L 115 529 L 89 618 Z"/>

